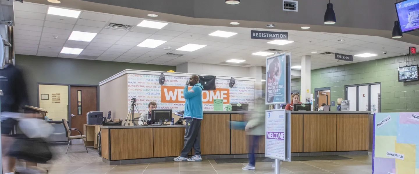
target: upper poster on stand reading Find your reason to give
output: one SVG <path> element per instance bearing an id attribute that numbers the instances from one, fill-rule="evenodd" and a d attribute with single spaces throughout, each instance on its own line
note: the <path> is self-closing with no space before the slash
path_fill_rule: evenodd
<path id="1" fill-rule="evenodd" d="M 266 104 L 286 103 L 285 53 L 266 58 Z"/>

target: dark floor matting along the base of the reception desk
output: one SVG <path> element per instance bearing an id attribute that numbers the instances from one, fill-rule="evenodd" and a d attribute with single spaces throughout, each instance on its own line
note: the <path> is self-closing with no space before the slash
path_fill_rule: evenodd
<path id="1" fill-rule="evenodd" d="M 291 161 L 313 161 L 313 160 L 336 160 L 336 159 L 352 159 L 344 156 L 331 155 L 331 156 L 293 156 Z M 217 164 L 225 163 L 245 163 L 248 158 L 233 158 L 233 159 L 214 159 Z M 274 159 L 270 158 L 256 158 L 256 162 L 273 162 Z"/>

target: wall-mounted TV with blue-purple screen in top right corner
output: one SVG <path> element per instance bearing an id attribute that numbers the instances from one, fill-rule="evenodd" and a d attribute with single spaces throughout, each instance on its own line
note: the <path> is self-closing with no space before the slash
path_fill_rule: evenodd
<path id="1" fill-rule="evenodd" d="M 403 0 L 395 5 L 401 31 L 419 30 L 419 0 Z"/>

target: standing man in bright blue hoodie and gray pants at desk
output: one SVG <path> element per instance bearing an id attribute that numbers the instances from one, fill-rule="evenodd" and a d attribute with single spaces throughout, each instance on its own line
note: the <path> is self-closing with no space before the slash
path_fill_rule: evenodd
<path id="1" fill-rule="evenodd" d="M 192 86 L 188 90 L 188 87 Z M 201 158 L 201 121 L 202 121 L 202 89 L 199 77 L 192 75 L 186 81 L 184 88 L 185 98 L 185 143 L 181 155 L 174 161 L 202 161 Z M 188 159 L 188 153 L 194 147 L 194 156 Z"/>

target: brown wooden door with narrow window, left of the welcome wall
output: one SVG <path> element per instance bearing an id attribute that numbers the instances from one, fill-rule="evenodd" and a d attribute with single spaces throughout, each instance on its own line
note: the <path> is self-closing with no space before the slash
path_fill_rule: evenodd
<path id="1" fill-rule="evenodd" d="M 70 102 L 71 128 L 83 131 L 87 113 L 97 111 L 96 87 L 71 86 Z"/>

